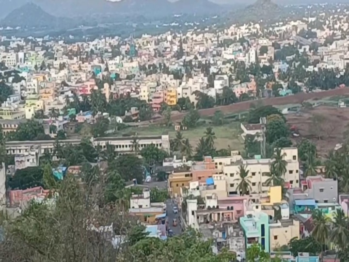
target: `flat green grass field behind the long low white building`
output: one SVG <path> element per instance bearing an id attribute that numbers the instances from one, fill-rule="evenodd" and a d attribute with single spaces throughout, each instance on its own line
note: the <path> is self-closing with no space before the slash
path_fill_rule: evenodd
<path id="1" fill-rule="evenodd" d="M 190 129 L 187 131 L 182 131 L 183 137 L 189 138 L 191 145 L 195 148 L 199 139 L 204 136 L 205 130 L 210 125 L 205 124 L 203 126 L 197 127 L 195 129 Z M 212 126 L 213 131 L 216 134 L 217 139 L 215 140 L 215 147 L 217 149 L 230 148 L 232 150 L 242 150 L 243 149 L 243 140 L 240 136 L 241 129 L 239 122 L 232 122 L 222 126 Z M 174 127 L 162 127 L 156 125 L 150 125 L 148 127 L 131 127 L 125 130 L 122 130 L 122 133 L 133 135 L 134 132 L 137 132 L 138 136 L 143 135 L 160 135 L 163 133 L 168 133 L 170 139 L 175 137 Z"/>

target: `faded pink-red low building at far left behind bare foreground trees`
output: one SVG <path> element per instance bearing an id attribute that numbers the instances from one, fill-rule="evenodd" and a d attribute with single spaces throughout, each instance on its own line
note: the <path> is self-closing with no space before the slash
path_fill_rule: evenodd
<path id="1" fill-rule="evenodd" d="M 10 205 L 20 206 L 32 199 L 39 197 L 45 198 L 48 196 L 49 190 L 43 189 L 41 186 L 28 188 L 26 190 L 11 190 L 10 191 Z"/>

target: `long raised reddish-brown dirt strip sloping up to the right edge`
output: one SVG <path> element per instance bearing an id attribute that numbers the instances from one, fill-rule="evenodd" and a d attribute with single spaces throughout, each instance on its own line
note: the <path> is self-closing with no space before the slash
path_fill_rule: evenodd
<path id="1" fill-rule="evenodd" d="M 259 101 L 263 101 L 263 105 L 286 105 L 286 104 L 300 104 L 305 100 L 309 99 L 321 99 L 326 97 L 332 97 L 332 96 L 342 96 L 342 95 L 348 95 L 349 94 L 349 88 L 337 88 L 332 89 L 328 91 L 322 91 L 317 93 L 300 93 L 293 96 L 286 96 L 281 98 L 264 98 Z M 231 104 L 227 106 L 217 106 L 214 108 L 208 108 L 208 109 L 202 109 L 199 110 L 200 115 L 202 116 L 210 116 L 213 115 L 216 111 L 222 111 L 224 114 L 232 114 L 232 113 L 238 113 L 242 111 L 247 111 L 250 109 L 251 104 L 257 103 L 256 100 L 254 101 L 246 101 L 246 102 L 240 102 L 236 104 Z M 172 121 L 179 121 L 182 120 L 182 118 L 187 113 L 180 113 L 173 115 L 171 117 Z M 157 119 L 157 121 L 160 119 Z"/>

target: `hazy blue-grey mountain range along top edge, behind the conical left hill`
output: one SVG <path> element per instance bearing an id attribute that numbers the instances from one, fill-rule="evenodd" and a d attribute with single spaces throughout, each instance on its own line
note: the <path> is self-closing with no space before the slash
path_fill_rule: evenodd
<path id="1" fill-rule="evenodd" d="M 28 0 L 0 0 L 0 16 L 6 10 L 23 6 Z M 78 17 L 93 14 L 167 16 L 172 14 L 211 14 L 224 8 L 209 0 L 31 0 L 48 14 Z M 7 11 L 7 12 L 9 12 Z"/>

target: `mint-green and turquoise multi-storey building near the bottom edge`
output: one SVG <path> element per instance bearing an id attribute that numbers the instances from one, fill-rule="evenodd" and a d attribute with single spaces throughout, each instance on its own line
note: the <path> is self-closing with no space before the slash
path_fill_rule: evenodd
<path id="1" fill-rule="evenodd" d="M 270 253 L 269 216 L 266 213 L 255 212 L 240 218 L 240 224 L 245 234 L 246 249 L 259 244 L 267 253 Z"/>

